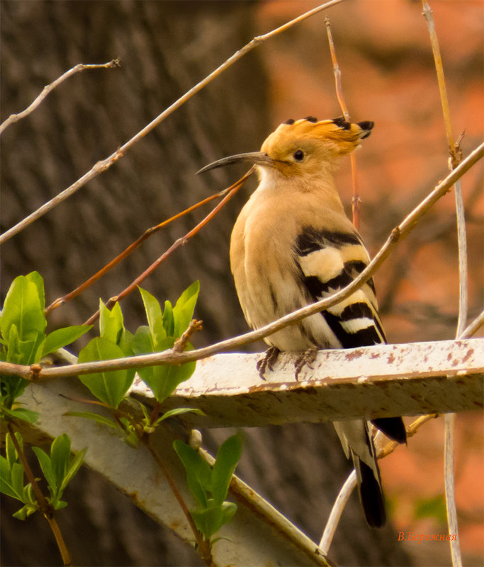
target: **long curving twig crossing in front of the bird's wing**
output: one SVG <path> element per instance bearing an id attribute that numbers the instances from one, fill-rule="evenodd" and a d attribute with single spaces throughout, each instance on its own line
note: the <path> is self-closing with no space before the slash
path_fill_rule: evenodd
<path id="1" fill-rule="evenodd" d="M 429 195 L 427 195 L 427 197 L 425 197 L 425 199 L 422 200 L 422 202 L 420 202 L 420 204 L 417 205 L 417 207 L 415 207 L 415 209 L 412 210 L 405 219 L 403 219 L 398 227 L 393 229 L 390 236 L 385 241 L 385 244 L 383 244 L 373 260 L 371 260 L 368 266 L 358 277 L 355 278 L 355 280 L 353 280 L 353 282 L 351 282 L 351 284 L 326 299 L 322 299 L 319 302 L 315 302 L 298 309 L 297 311 L 293 311 L 293 313 L 283 316 L 281 319 L 277 319 L 256 331 L 250 331 L 249 333 L 244 333 L 243 335 L 232 337 L 204 348 L 189 350 L 184 353 L 174 353 L 173 350 L 169 349 L 164 350 L 162 353 L 153 353 L 150 355 L 137 355 L 99 362 L 84 362 L 83 364 L 72 366 L 43 368 L 40 370 L 38 377 L 40 379 L 46 379 L 51 377 L 74 376 L 76 374 L 90 374 L 91 372 L 100 372 L 101 370 L 108 371 L 121 370 L 123 368 L 141 368 L 158 364 L 184 364 L 184 362 L 200 360 L 218 353 L 226 352 L 227 350 L 240 348 L 242 345 L 254 343 L 256 340 L 276 333 L 276 331 L 280 331 L 281 328 L 284 328 L 291 323 L 295 323 L 296 321 L 305 319 L 305 317 L 313 315 L 319 311 L 328 309 L 328 307 L 342 302 L 343 299 L 346 299 L 353 294 L 355 290 L 361 287 L 361 285 L 363 285 L 364 282 L 366 282 L 381 266 L 398 242 L 405 238 L 405 236 L 407 236 L 407 234 L 415 227 L 418 220 L 420 220 L 420 218 L 422 218 L 424 214 L 449 191 L 458 178 L 463 176 L 463 174 L 466 173 L 466 171 L 468 171 L 477 161 L 482 159 L 483 156 L 484 143 L 475 148 L 471 154 L 469 154 L 466 159 L 458 165 L 458 167 L 446 176 L 444 181 L 441 181 L 434 190 L 429 193 Z M 31 374 L 30 366 L 15 365 L 10 362 L 0 362 L 0 370 L 26 379 L 29 379 Z"/>

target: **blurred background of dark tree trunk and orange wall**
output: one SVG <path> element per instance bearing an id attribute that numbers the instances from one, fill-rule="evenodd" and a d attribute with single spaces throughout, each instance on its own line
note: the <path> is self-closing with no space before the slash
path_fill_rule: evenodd
<path id="1" fill-rule="evenodd" d="M 255 35 L 315 1 L 3 0 L 1 120 L 26 108 L 43 86 L 75 64 L 120 57 L 122 67 L 84 71 L 51 93 L 1 137 L 1 231 L 86 173 Z M 432 0 L 454 137 L 464 155 L 483 137 L 484 13 L 480 0 Z M 2 301 L 13 277 L 38 270 L 47 302 L 71 291 L 145 229 L 242 173 L 196 177 L 214 159 L 259 149 L 288 118 L 334 118 L 325 16 L 330 18 L 344 96 L 355 121 L 373 120 L 357 154 L 360 231 L 371 253 L 447 173 L 447 144 L 429 35 L 416 0 L 346 1 L 257 47 L 142 139 L 123 159 L 2 247 Z M 463 178 L 469 262 L 469 321 L 483 306 L 483 166 Z M 350 211 L 351 171 L 337 186 Z M 196 316 L 206 345 L 247 330 L 232 284 L 228 241 L 254 181 L 143 287 L 174 300 L 201 280 Z M 171 224 L 94 287 L 50 316 L 50 329 L 77 324 L 128 285 L 208 212 Z M 454 195 L 449 193 L 376 275 L 388 340 L 451 339 L 458 313 Z M 125 299 L 128 327 L 142 323 L 137 294 Z M 481 333 L 482 335 L 482 333 Z M 263 343 L 252 346 L 264 350 Z M 484 427 L 481 413 L 456 419 L 456 498 L 466 565 L 484 561 Z M 227 431 L 207 432 L 210 447 Z M 443 420 L 432 420 L 381 462 L 393 525 L 364 524 L 352 498 L 330 550 L 345 565 L 447 566 L 446 542 L 398 542 L 398 532 L 446 531 Z M 319 540 L 349 471 L 329 425 L 247 430 L 237 469 L 310 537 Z M 135 509 L 92 471 L 66 494 L 60 525 L 77 565 L 198 565 L 197 556 Z M 2 499 L 1 563 L 57 565 L 43 518 L 11 518 Z M 43 524 L 46 524 L 45 526 Z"/>

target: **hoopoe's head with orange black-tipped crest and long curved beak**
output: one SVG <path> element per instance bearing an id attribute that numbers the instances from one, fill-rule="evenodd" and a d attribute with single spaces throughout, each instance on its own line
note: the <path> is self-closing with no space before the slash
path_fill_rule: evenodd
<path id="1" fill-rule="evenodd" d="M 337 158 L 356 149 L 372 128 L 373 122 L 350 124 L 344 118 L 287 120 L 267 137 L 260 151 L 219 159 L 198 173 L 248 161 L 262 169 L 275 169 L 284 177 L 318 175 L 331 171 Z"/>

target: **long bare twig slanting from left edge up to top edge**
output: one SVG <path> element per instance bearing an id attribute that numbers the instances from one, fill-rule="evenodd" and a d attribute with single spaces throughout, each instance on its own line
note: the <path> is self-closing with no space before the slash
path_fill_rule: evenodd
<path id="1" fill-rule="evenodd" d="M 330 6 L 334 6 L 335 4 L 339 4 L 342 1 L 343 0 L 330 0 L 325 4 L 321 4 L 320 6 L 313 8 L 313 10 L 303 13 L 301 16 L 294 18 L 293 20 L 281 25 L 279 28 L 270 31 L 269 33 L 266 33 L 265 35 L 258 35 L 257 37 L 252 39 L 249 43 L 247 43 L 247 45 L 244 45 L 242 49 L 238 50 L 231 57 L 229 57 L 223 64 L 220 65 L 220 67 L 217 67 L 215 71 L 212 71 L 209 75 L 207 75 L 205 79 L 202 79 L 199 83 L 197 83 L 189 91 L 187 91 L 183 96 L 181 96 L 177 101 L 171 104 L 167 109 L 163 110 L 161 114 L 159 114 L 149 124 L 147 124 L 144 128 L 142 128 L 140 132 L 137 132 L 137 134 L 135 134 L 135 136 L 129 139 L 128 142 L 125 142 L 125 144 L 123 144 L 120 148 L 118 148 L 115 152 L 113 152 L 111 156 L 108 156 L 106 159 L 98 161 L 97 164 L 95 164 L 89 171 L 84 173 L 84 175 L 81 178 L 79 178 L 77 181 L 75 181 L 72 185 L 64 189 L 61 193 L 56 195 L 52 200 L 46 202 L 44 205 L 42 205 L 42 207 L 39 207 L 33 213 L 29 214 L 28 217 L 25 217 L 23 220 L 21 220 L 21 222 L 18 222 L 18 224 L 16 224 L 14 227 L 11 227 L 11 229 L 5 231 L 4 234 L 1 234 L 0 244 L 3 244 L 5 241 L 9 240 L 12 236 L 18 234 L 18 232 L 28 227 L 29 224 L 33 223 L 35 220 L 42 217 L 46 212 L 50 211 L 51 209 L 59 205 L 62 201 L 66 200 L 71 195 L 74 195 L 74 193 L 76 193 L 77 190 L 79 190 L 88 181 L 91 181 L 91 179 L 98 176 L 99 173 L 102 173 L 103 171 L 106 171 L 106 169 L 110 168 L 114 163 L 116 163 L 116 161 L 118 161 L 118 159 L 120 159 L 120 157 L 123 156 L 123 154 L 125 154 L 126 151 L 128 151 L 128 149 L 131 149 L 131 147 L 133 147 L 133 145 L 136 144 L 136 142 L 139 142 L 140 139 L 145 137 L 145 135 L 148 132 L 151 132 L 151 130 L 153 130 L 154 127 L 157 127 L 157 125 L 159 125 L 160 122 L 163 122 L 163 120 L 167 118 L 167 116 L 169 116 L 171 113 L 173 113 L 174 110 L 176 110 L 181 105 L 186 103 L 186 101 L 188 101 L 189 98 L 191 98 L 193 95 L 198 93 L 198 91 L 201 91 L 202 88 L 204 88 L 211 81 L 213 81 L 213 79 L 215 79 L 221 73 L 223 73 L 225 69 L 228 69 L 228 67 L 233 65 L 241 57 L 243 57 L 249 51 L 254 49 L 254 47 L 257 47 L 258 45 L 261 45 L 262 42 L 269 40 L 270 38 L 273 38 L 274 35 L 277 35 L 278 33 L 281 33 L 287 30 L 288 28 L 291 28 L 296 23 L 299 23 L 305 20 L 306 18 L 309 18 L 310 16 L 314 16 L 316 13 L 325 10 L 326 8 L 330 8 Z"/>

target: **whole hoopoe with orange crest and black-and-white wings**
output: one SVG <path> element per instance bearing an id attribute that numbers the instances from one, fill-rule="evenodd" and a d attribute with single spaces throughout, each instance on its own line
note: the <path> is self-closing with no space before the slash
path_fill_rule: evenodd
<path id="1" fill-rule="evenodd" d="M 279 125 L 261 151 L 226 157 L 198 173 L 248 161 L 259 185 L 242 208 L 230 239 L 230 265 L 242 311 L 252 328 L 271 323 L 348 285 L 370 258 L 344 212 L 334 185 L 339 157 L 359 147 L 373 122 L 308 117 Z M 373 279 L 344 301 L 264 339 L 269 350 L 258 368 L 271 370 L 279 351 L 311 353 L 385 343 Z M 308 356 L 309 355 L 309 356 Z M 313 356 L 314 360 L 314 356 Z M 371 423 L 392 440 L 406 441 L 402 418 Z M 385 525 L 385 504 L 371 423 L 334 423 L 348 459 L 353 459 L 359 496 L 370 527 Z"/>

